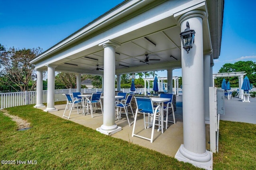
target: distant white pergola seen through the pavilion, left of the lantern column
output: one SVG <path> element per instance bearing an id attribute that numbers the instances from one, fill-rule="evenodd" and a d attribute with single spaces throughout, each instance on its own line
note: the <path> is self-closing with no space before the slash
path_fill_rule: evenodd
<path id="1" fill-rule="evenodd" d="M 163 85 L 164 80 L 168 80 L 168 77 L 158 77 L 158 87 L 160 88 L 160 86 Z M 178 88 L 179 88 L 179 77 L 177 76 L 173 76 L 172 79 L 169 78 L 169 80 L 171 80 L 170 82 L 167 82 L 167 93 L 168 94 L 172 94 L 172 80 L 174 80 L 174 94 L 179 96 L 179 92 L 178 92 Z M 154 78 L 143 78 L 144 80 L 144 95 L 146 95 L 146 85 L 148 83 L 148 92 L 149 92 L 149 85 L 150 85 L 150 81 L 154 81 Z M 160 88 L 161 90 L 162 88 Z"/>

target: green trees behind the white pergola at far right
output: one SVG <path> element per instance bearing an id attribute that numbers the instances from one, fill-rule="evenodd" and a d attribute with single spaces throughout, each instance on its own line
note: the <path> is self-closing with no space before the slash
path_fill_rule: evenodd
<path id="1" fill-rule="evenodd" d="M 256 62 L 252 61 L 238 61 L 234 64 L 226 63 L 220 68 L 219 73 L 224 72 L 242 72 L 245 71 L 248 76 L 250 83 L 256 86 Z M 238 77 L 222 77 L 217 78 L 216 86 L 221 87 L 222 79 L 225 78 L 226 81 L 230 81 L 231 87 L 238 87 Z"/>

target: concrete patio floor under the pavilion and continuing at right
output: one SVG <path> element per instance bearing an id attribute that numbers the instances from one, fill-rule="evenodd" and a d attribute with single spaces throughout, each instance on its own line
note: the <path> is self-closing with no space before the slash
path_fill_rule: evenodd
<path id="1" fill-rule="evenodd" d="M 242 102 L 242 100 L 239 98 L 233 98 L 230 100 L 226 99 L 225 115 L 220 115 L 220 119 L 256 124 L 256 98 L 250 98 L 250 101 L 251 102 L 249 103 Z M 56 105 L 55 107 L 58 109 L 58 111 L 50 113 L 63 118 L 62 115 L 65 106 L 66 104 Z M 41 109 L 43 110 L 44 108 Z M 150 141 L 148 140 L 144 140 L 138 137 L 132 137 L 133 125 L 129 127 L 126 116 L 122 115 L 122 119 L 116 120 L 115 122 L 118 126 L 122 127 L 122 130 L 120 132 L 113 134 L 112 137 L 120 138 L 133 144 L 138 144 L 140 146 L 155 150 L 162 154 L 174 157 L 180 145 L 183 144 L 182 96 L 176 97 L 175 118 L 176 124 L 168 123 L 168 129 L 164 129 L 163 134 L 161 134 L 161 132 L 157 132 L 155 128 L 154 140 L 153 143 L 150 143 Z M 83 126 L 92 128 L 94 130 L 96 130 L 96 128 L 99 128 L 103 124 L 103 116 L 92 118 L 91 115 L 84 116 L 82 114 L 77 114 L 76 110 L 72 111 L 69 120 L 81 124 Z M 172 120 L 172 115 L 169 115 L 169 120 Z M 133 121 L 133 119 L 130 118 L 130 121 Z M 206 149 L 208 150 L 210 149 L 210 144 L 208 144 L 208 141 L 210 141 L 209 129 L 209 125 L 206 124 Z M 146 137 L 149 138 L 151 130 L 151 128 L 146 130 L 144 129 L 143 116 L 140 115 L 138 118 L 138 122 L 136 123 L 136 132 L 139 132 L 140 134 L 142 134 L 142 136 L 145 135 Z"/>

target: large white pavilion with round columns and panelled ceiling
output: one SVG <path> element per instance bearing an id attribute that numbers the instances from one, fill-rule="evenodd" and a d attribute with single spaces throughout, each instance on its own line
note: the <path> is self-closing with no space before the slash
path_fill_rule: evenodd
<path id="1" fill-rule="evenodd" d="M 205 120 L 209 118 L 207 101 L 213 59 L 220 56 L 223 7 L 224 0 L 124 0 L 30 61 L 39 75 L 35 107 L 42 107 L 43 70 L 48 71 L 46 112 L 57 110 L 55 71 L 76 73 L 77 91 L 80 91 L 81 74 L 100 75 L 104 115 L 103 124 L 97 130 L 113 134 L 122 129 L 114 118 L 115 75 L 120 88 L 121 74 L 167 70 L 170 84 L 172 70 L 182 68 L 184 144 L 175 157 L 211 169 L 212 153 L 206 150 Z M 180 40 L 186 22 L 196 32 L 189 53 Z M 149 56 L 148 61 L 145 54 Z"/>

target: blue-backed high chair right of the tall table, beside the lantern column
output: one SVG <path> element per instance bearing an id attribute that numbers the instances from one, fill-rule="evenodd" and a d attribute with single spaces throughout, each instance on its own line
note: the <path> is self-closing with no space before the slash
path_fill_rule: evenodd
<path id="1" fill-rule="evenodd" d="M 166 118 L 165 118 L 164 122 L 165 122 L 165 128 L 167 129 L 168 122 L 172 122 L 172 123 L 176 124 L 175 114 L 174 114 L 174 109 L 173 109 L 173 104 L 172 104 L 173 94 L 160 94 L 160 98 L 170 98 L 170 101 L 164 102 L 164 108 L 163 108 L 163 110 L 166 111 Z M 172 108 L 173 121 L 168 120 L 169 108 Z"/>

